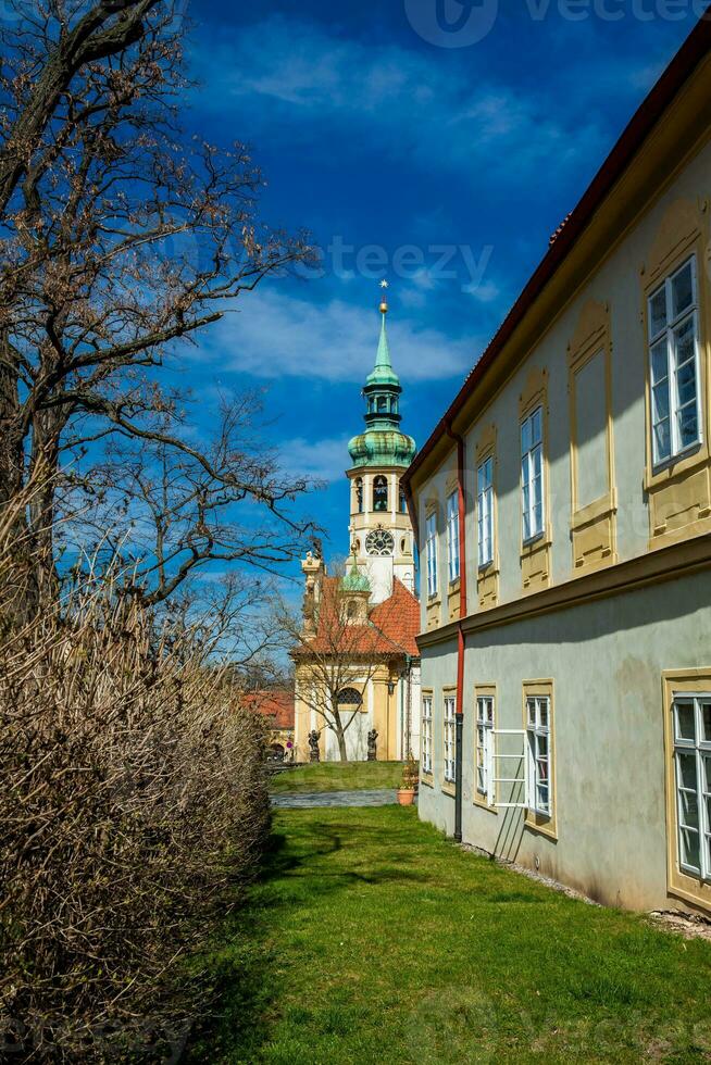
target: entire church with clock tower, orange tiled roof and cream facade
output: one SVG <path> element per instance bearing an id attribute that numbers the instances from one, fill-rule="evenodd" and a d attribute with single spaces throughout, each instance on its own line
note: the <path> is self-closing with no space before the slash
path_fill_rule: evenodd
<path id="1" fill-rule="evenodd" d="M 296 759 L 402 761 L 420 749 L 420 605 L 414 532 L 401 478 L 415 442 L 400 429 L 402 387 L 381 303 L 365 430 L 349 443 L 350 556 L 341 574 L 302 562 L 303 624 L 292 651 Z"/>

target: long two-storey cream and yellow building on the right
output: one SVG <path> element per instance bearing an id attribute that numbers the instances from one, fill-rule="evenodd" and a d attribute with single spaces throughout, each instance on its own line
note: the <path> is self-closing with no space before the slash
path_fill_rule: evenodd
<path id="1" fill-rule="evenodd" d="M 702 20 L 404 477 L 421 816 L 602 902 L 706 913 L 710 46 Z"/>

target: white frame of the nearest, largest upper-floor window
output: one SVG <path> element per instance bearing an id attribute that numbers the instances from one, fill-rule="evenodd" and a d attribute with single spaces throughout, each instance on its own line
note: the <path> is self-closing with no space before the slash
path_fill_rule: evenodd
<path id="1" fill-rule="evenodd" d="M 691 267 L 691 303 L 684 308 L 674 316 L 673 306 L 673 285 L 676 277 L 687 267 Z M 658 296 L 664 293 L 665 313 L 664 326 L 652 331 L 652 303 Z M 651 437 L 652 464 L 656 468 L 674 462 L 681 455 L 693 451 L 702 442 L 702 410 L 701 410 L 701 366 L 700 366 L 700 342 L 699 342 L 699 288 L 697 277 L 696 254 L 686 259 L 677 270 L 673 271 L 664 281 L 659 285 L 647 299 L 647 320 L 648 320 L 648 355 L 649 355 L 649 431 Z M 678 365 L 678 344 L 676 335 L 678 330 L 693 322 L 694 329 L 694 354 L 682 366 Z M 653 352 L 654 349 L 665 346 L 666 348 L 666 376 L 660 377 L 654 381 Z M 685 366 L 694 365 L 695 396 L 688 400 L 684 406 L 679 403 L 678 375 Z M 665 384 L 663 393 L 666 398 L 666 415 L 656 417 L 656 393 Z M 691 406 L 696 412 L 696 438 L 689 443 L 682 444 L 679 431 L 679 415 L 683 410 Z M 669 453 L 661 454 L 658 447 L 657 427 L 664 422 L 669 422 Z"/>

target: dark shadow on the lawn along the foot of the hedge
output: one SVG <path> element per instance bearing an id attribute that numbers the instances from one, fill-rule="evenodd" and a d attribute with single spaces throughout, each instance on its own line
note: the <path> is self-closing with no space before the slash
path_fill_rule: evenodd
<path id="1" fill-rule="evenodd" d="M 330 872 L 323 860 L 356 840 L 366 855 L 364 868 Z M 309 895 L 323 899 L 354 884 L 381 885 L 426 881 L 427 875 L 391 861 L 373 863 L 371 837 L 378 830 L 347 823 L 314 825 L 289 837 L 273 831 L 260 876 L 242 905 L 225 920 L 208 954 L 209 986 L 215 1007 L 197 1025 L 188 1041 L 185 1065 L 204 1062 L 259 1061 L 260 1048 L 279 1023 L 276 969 L 284 958 L 274 944 L 274 915 L 279 910 L 303 906 Z M 369 854 L 370 851 L 370 854 Z M 356 859 L 358 861 L 358 859 Z"/>

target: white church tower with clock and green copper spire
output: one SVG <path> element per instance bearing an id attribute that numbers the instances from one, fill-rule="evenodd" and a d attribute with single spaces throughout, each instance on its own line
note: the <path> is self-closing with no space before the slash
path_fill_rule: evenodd
<path id="1" fill-rule="evenodd" d="M 414 538 L 400 477 L 416 449 L 412 437 L 400 431 L 402 387 L 390 361 L 387 281 L 382 285 L 381 340 L 363 389 L 366 429 L 348 446 L 352 465 L 347 472 L 351 552 L 369 577 L 373 603 L 391 594 L 394 577 L 411 592 L 415 589 Z"/>

